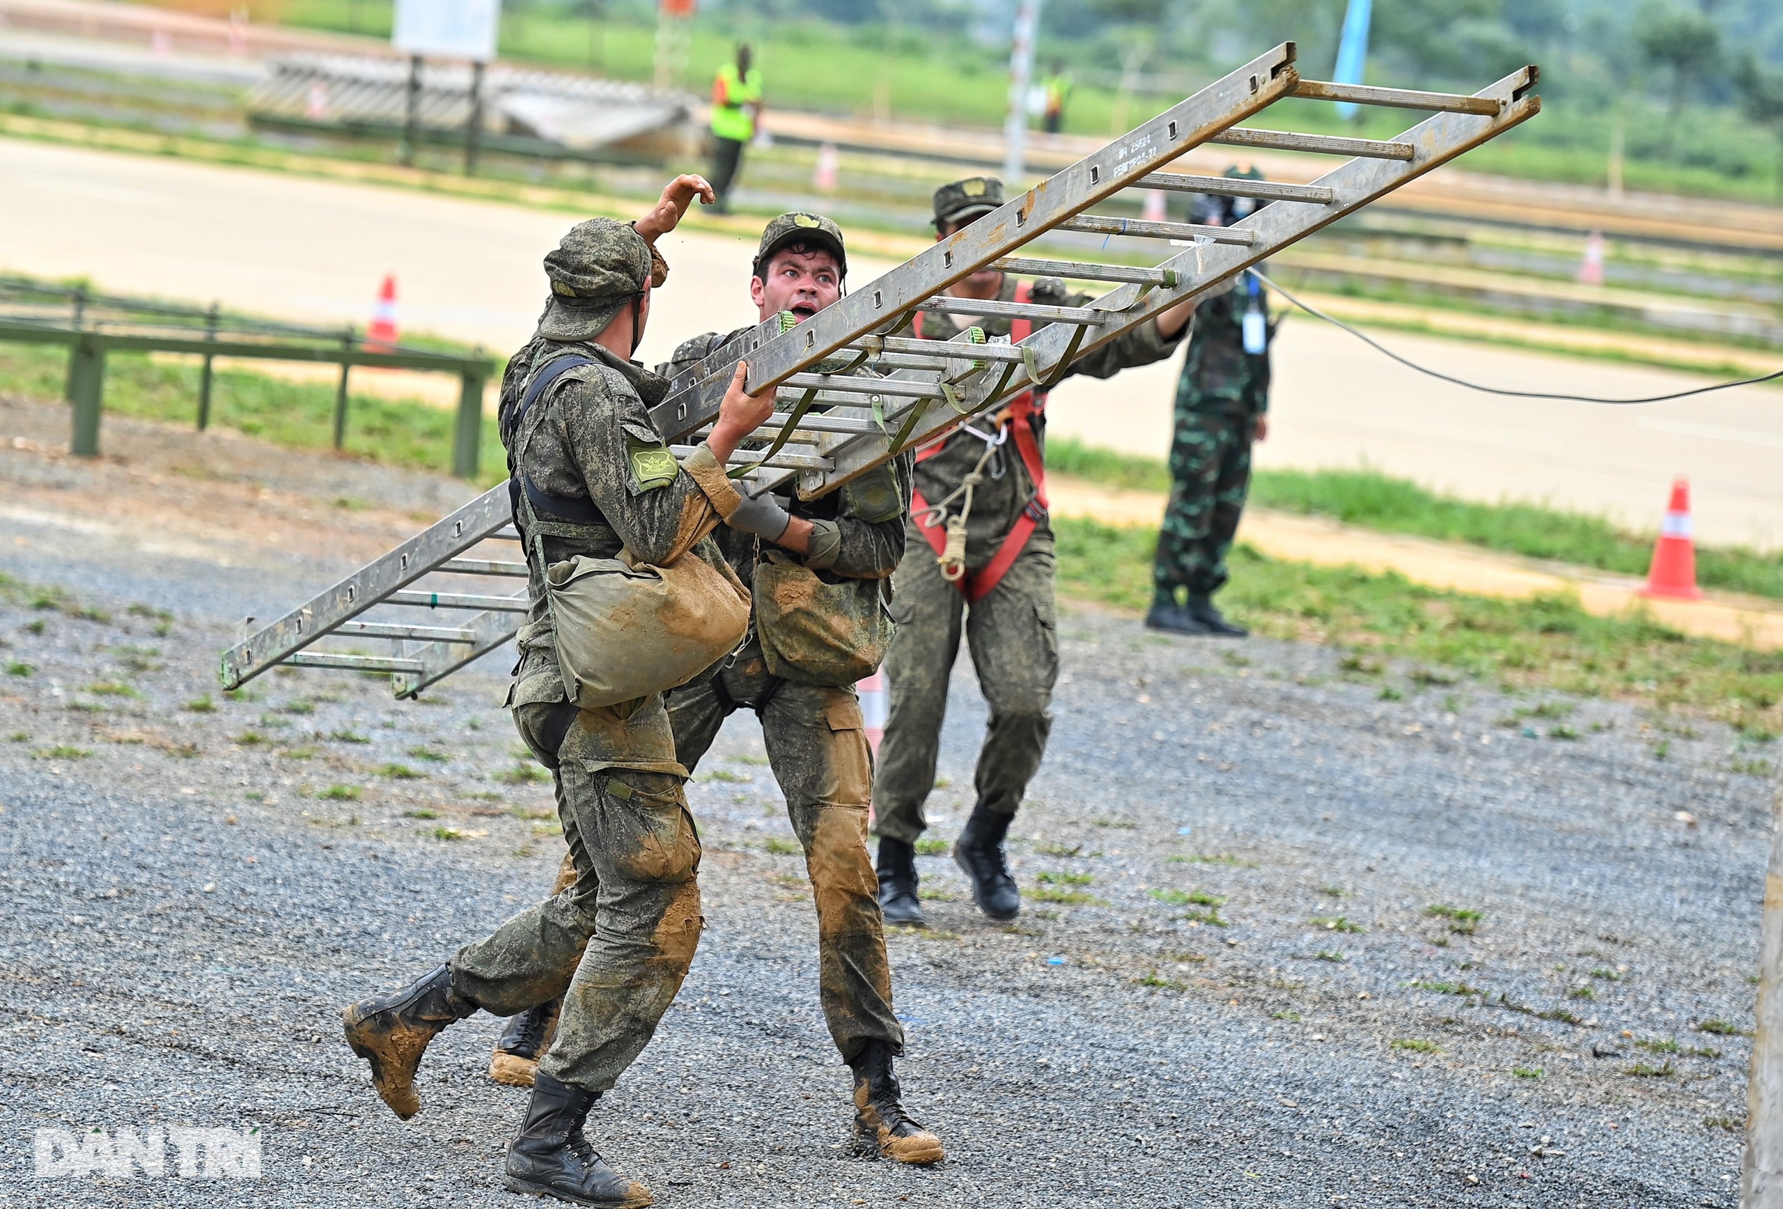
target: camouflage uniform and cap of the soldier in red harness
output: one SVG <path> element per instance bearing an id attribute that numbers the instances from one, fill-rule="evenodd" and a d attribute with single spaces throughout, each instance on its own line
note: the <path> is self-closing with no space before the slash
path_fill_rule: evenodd
<path id="1" fill-rule="evenodd" d="M 1002 202 L 1000 184 L 988 178 L 975 180 L 981 185 L 975 196 L 984 196 L 986 205 L 991 200 Z M 972 184 L 968 180 L 949 189 Z M 949 203 L 949 189 L 936 194 L 938 214 L 949 212 L 943 209 Z M 954 202 L 957 203 L 957 198 Z M 1006 275 L 997 296 L 1002 301 L 1015 301 L 1015 278 Z M 1064 282 L 1041 278 L 1034 284 L 1031 300 L 1056 307 L 1082 307 L 1089 301 L 1089 294 L 1070 294 Z M 1009 335 L 1011 328 L 1007 317 L 997 316 L 961 316 L 961 321 L 982 328 L 986 335 Z M 929 314 L 924 316 L 918 335 L 950 339 L 957 332 L 950 316 Z M 1163 339 L 1157 325 L 1143 323 L 1073 362 L 1068 373 L 1111 378 L 1122 369 L 1163 360 L 1175 348 L 1177 341 Z M 972 426 L 990 432 L 991 421 L 984 417 Z M 1043 415 L 1034 417 L 1034 439 L 1043 446 Z M 916 490 L 924 499 L 938 503 L 959 487 L 982 455 L 984 440 L 965 430 L 956 432 L 940 453 L 916 464 Z M 991 455 L 988 476 L 972 496 L 972 514 L 966 517 L 966 574 L 995 558 L 1032 501 L 1034 481 L 1011 439 Z M 1022 804 L 1029 779 L 1039 769 L 1052 729 L 1048 713 L 1052 685 L 1059 674 L 1052 528 L 1041 515 L 1004 578 L 968 608 L 959 588 L 941 578 L 929 539 L 911 519 L 895 583 L 892 615 L 897 619 L 899 635 L 884 665 L 892 713 L 884 740 L 879 744 L 879 774 L 874 779 L 874 835 L 915 843 L 927 827 L 924 802 L 934 786 L 947 683 L 961 635 L 972 651 L 979 688 L 990 704 L 990 724 L 974 774 L 979 806 L 995 815 L 1013 815 Z"/>

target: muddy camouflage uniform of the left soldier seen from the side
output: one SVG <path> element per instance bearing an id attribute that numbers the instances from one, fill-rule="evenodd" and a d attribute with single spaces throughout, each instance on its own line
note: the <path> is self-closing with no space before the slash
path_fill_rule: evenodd
<path id="1" fill-rule="evenodd" d="M 569 264 L 560 260 L 553 269 L 546 260 L 555 298 L 501 385 L 510 481 L 530 480 L 547 499 L 597 512 L 594 522 L 547 514 L 540 521 L 547 562 L 612 558 L 626 547 L 651 563 L 690 551 L 717 565 L 722 553 L 704 535 L 719 514 L 694 478 L 719 473 L 717 460 L 701 448 L 685 467 L 676 465 L 647 410 L 667 382 L 594 344 L 587 307 L 578 307 L 578 291 L 588 298 L 615 292 L 612 282 L 576 273 L 578 253 L 612 260 L 615 248 L 642 259 L 642 269 L 631 266 L 631 273 L 651 273 L 653 250 L 637 232 L 606 219 L 579 225 L 553 253 L 571 253 Z M 546 410 L 528 424 L 528 448 L 515 448 L 515 408 L 526 385 L 563 353 L 594 364 L 571 369 L 533 403 Z M 497 1015 L 562 995 L 556 1038 L 538 1070 L 599 1093 L 651 1040 L 694 959 L 703 924 L 699 838 L 661 695 L 574 708 L 558 676 L 538 565 L 530 588 L 508 704 L 526 745 L 553 770 L 576 883 L 460 949 L 449 970 L 458 995 Z"/>

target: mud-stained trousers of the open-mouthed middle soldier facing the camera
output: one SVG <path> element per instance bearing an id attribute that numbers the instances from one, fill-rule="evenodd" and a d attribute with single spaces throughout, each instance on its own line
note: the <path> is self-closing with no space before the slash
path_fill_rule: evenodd
<path id="1" fill-rule="evenodd" d="M 843 1059 L 874 1040 L 904 1052 L 892 1009 L 879 877 L 867 851 L 872 751 L 854 688 L 795 685 L 770 676 L 751 638 L 724 669 L 669 694 L 676 758 L 694 769 L 733 711 L 761 719 L 768 765 L 817 901 L 818 997 Z"/>

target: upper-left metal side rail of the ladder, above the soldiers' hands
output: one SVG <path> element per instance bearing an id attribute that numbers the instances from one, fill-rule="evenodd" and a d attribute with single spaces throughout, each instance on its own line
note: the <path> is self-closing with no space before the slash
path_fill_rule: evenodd
<path id="1" fill-rule="evenodd" d="M 665 439 L 676 440 L 711 423 L 729 385 L 727 371 L 742 357 L 749 358 L 749 391 L 760 392 L 779 385 L 788 374 L 808 369 L 850 341 L 902 321 L 918 303 L 984 264 L 1016 251 L 1227 127 L 1293 95 L 1300 82 L 1293 62 L 1294 45 L 1282 43 L 925 248 L 793 330 L 761 339 L 777 328 L 777 321 L 770 319 L 740 335 L 676 378 L 669 398 L 651 408 L 656 430 Z"/>

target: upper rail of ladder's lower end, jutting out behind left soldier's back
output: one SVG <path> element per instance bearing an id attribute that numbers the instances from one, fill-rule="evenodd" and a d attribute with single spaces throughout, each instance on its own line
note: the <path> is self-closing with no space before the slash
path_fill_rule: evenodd
<path id="1" fill-rule="evenodd" d="M 512 519 L 508 512 L 506 483 L 492 487 L 326 592 L 262 626 L 223 653 L 218 667 L 223 688 L 246 685 L 266 669 L 332 633 L 341 622 L 358 617 L 439 569 L 440 563 L 456 558 L 505 528 Z"/>

